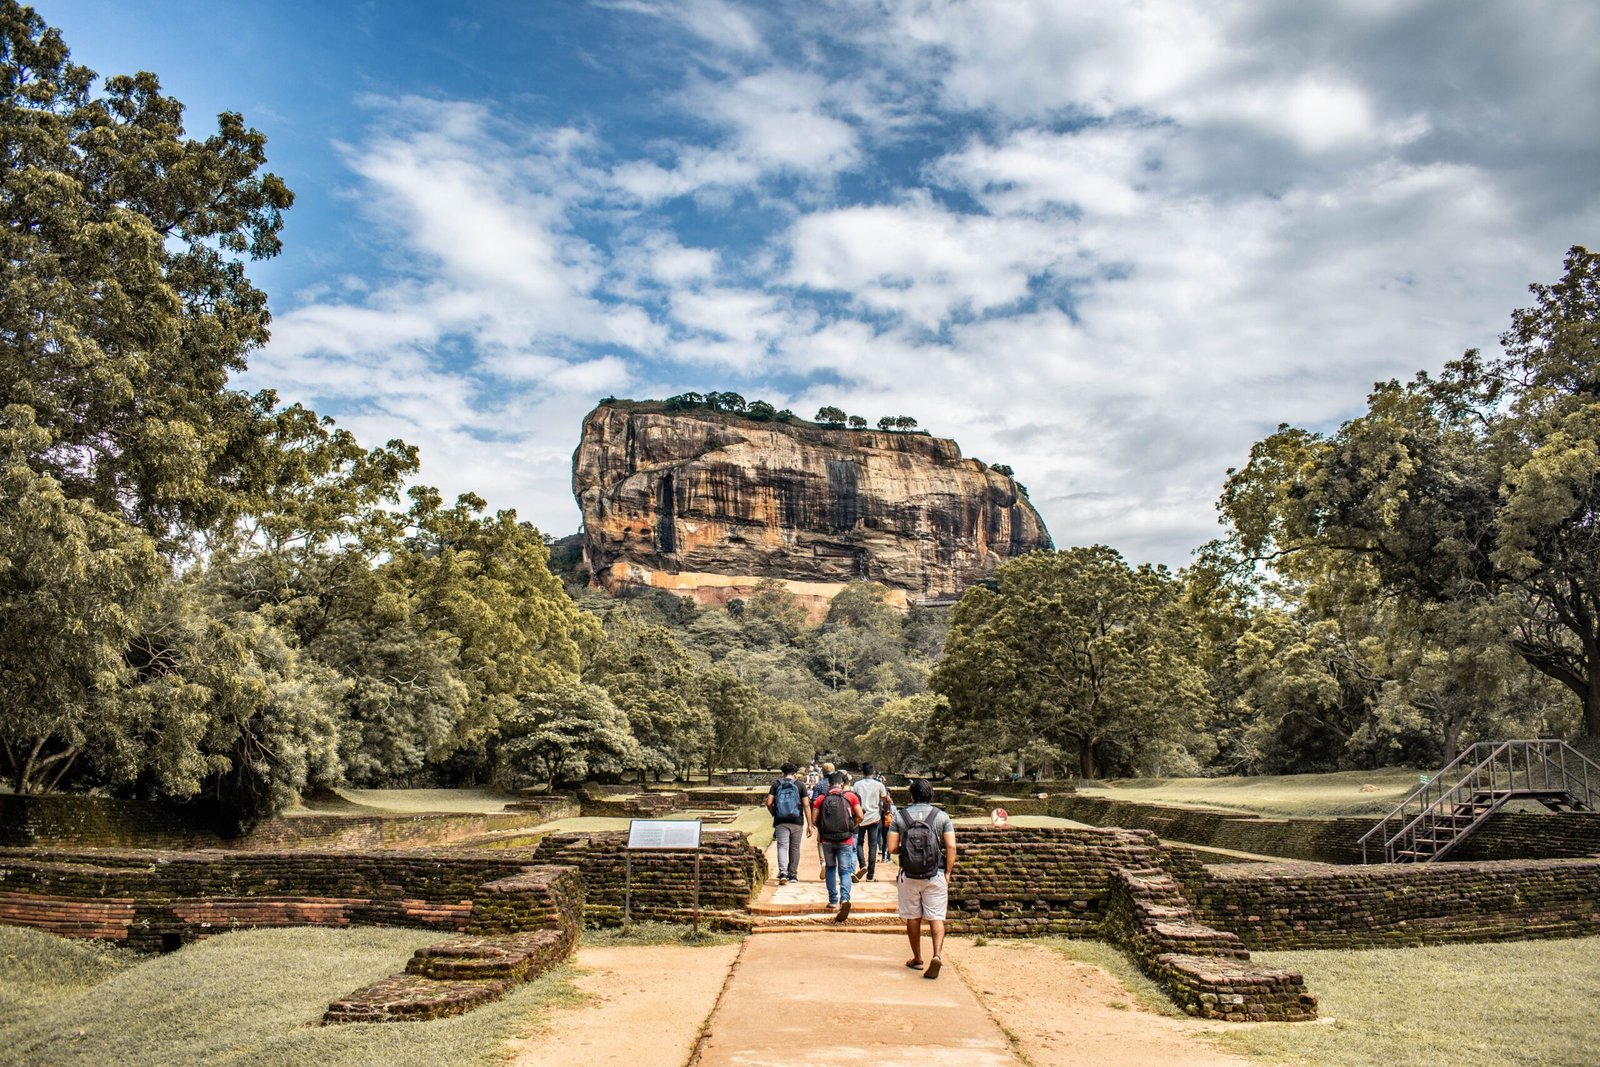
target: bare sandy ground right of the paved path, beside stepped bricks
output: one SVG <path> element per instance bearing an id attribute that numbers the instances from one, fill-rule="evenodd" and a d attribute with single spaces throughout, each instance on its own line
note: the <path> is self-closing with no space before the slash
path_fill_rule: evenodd
<path id="1" fill-rule="evenodd" d="M 1110 974 L 1026 941 L 982 949 L 952 942 L 955 971 L 1011 1033 L 1034 1067 L 1259 1067 L 1197 1035 L 1229 1024 L 1170 1019 L 1134 1006 Z M 1112 1005 L 1123 1008 L 1112 1008 Z"/>

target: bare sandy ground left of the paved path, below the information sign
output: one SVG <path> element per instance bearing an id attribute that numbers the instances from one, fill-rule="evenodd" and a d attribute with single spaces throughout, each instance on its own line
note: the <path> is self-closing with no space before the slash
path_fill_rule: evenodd
<path id="1" fill-rule="evenodd" d="M 739 944 L 579 947 L 579 1005 L 557 1008 L 515 1043 L 515 1067 L 683 1067 Z"/>

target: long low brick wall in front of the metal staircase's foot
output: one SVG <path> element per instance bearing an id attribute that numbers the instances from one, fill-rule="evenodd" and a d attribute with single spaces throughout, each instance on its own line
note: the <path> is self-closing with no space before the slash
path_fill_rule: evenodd
<path id="1" fill-rule="evenodd" d="M 1600 861 L 1194 865 L 1202 921 L 1246 947 L 1362 949 L 1600 934 Z"/>

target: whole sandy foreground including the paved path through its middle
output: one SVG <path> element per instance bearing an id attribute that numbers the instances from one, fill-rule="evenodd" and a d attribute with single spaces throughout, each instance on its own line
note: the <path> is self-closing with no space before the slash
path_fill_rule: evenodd
<path id="1" fill-rule="evenodd" d="M 819 950 L 818 944 L 824 947 Z M 1261 1067 L 1261 1061 L 1221 1053 L 1202 1040 L 1200 1035 L 1224 1024 L 1141 1011 L 1110 974 L 1043 945 L 992 941 L 976 949 L 965 937 L 952 937 L 946 971 L 933 985 L 901 966 L 906 958 L 902 939 L 826 933 L 758 934 L 744 945 L 710 949 L 579 949 L 576 984 L 590 998 L 552 1011 L 538 1033 L 515 1045 L 514 1062 L 517 1067 L 683 1067 L 702 1030 L 707 1032 L 701 1046 L 702 1067 L 813 1062 L 818 1033 L 829 1033 L 840 1045 L 856 1045 L 861 1030 L 843 1025 L 811 1029 L 810 1035 L 782 1033 L 781 1021 L 814 1025 L 826 1005 L 808 1003 L 803 982 L 789 990 L 781 982 L 768 982 L 760 974 L 760 957 L 781 952 L 795 961 L 792 971 L 805 976 L 834 944 L 838 945 L 838 968 L 861 969 L 856 977 L 875 989 L 880 1021 L 918 1005 L 934 1009 L 914 1027 L 883 1030 L 896 1045 L 907 1035 L 891 1033 L 894 1030 L 922 1035 L 926 1049 L 862 1048 L 859 1053 L 869 1059 L 859 1062 L 898 1064 L 896 1056 L 906 1053 L 906 1062 L 942 1064 L 949 1057 L 949 1062 L 974 1067 Z M 949 1011 L 938 1011 L 946 1001 Z M 974 1021 L 978 1008 L 989 1017 Z M 861 1017 L 859 1006 L 846 1005 L 845 1009 Z M 949 1019 L 950 1033 L 938 1032 L 941 1017 Z M 1021 1056 L 1006 1048 L 1000 1029 L 1014 1040 Z M 965 1054 L 957 1054 L 963 1043 Z"/>

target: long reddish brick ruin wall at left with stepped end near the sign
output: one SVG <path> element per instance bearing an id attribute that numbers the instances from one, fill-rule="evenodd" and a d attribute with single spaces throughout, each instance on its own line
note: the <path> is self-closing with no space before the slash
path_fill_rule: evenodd
<path id="1" fill-rule="evenodd" d="M 571 955 L 584 888 L 570 867 L 451 853 L 0 849 L 0 923 L 142 950 L 264 926 L 451 934 L 330 1005 L 325 1022 L 459 1014 Z"/>

